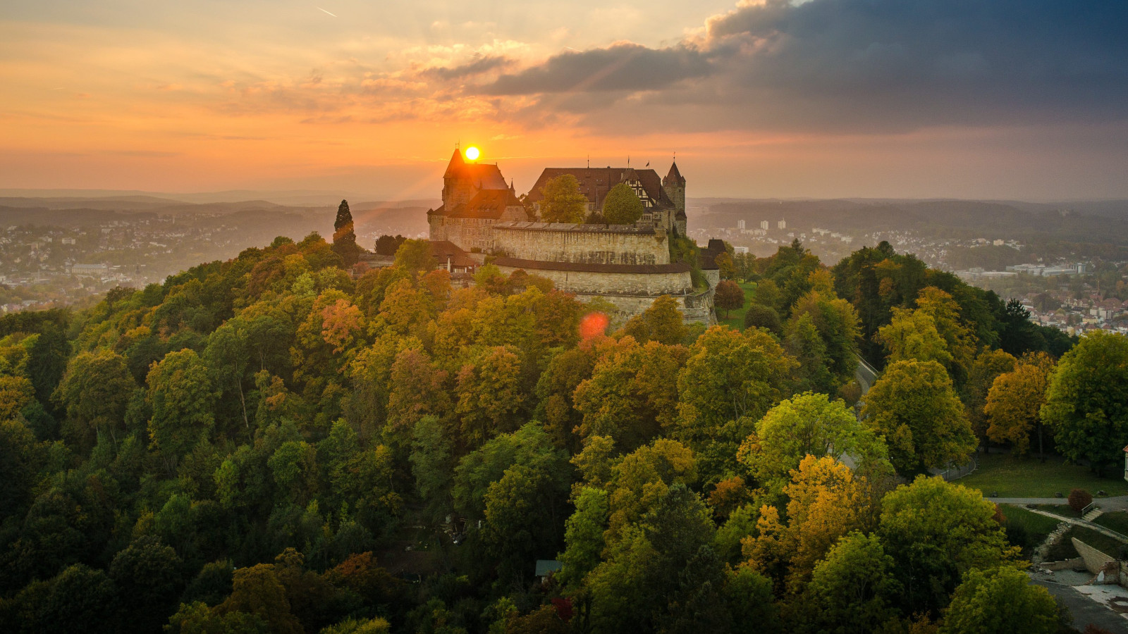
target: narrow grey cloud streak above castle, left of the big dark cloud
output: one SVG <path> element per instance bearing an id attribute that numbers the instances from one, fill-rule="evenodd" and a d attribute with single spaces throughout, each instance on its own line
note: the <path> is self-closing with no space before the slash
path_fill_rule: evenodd
<path id="1" fill-rule="evenodd" d="M 705 77 L 708 72 L 707 61 L 693 46 L 647 49 L 637 44 L 616 44 L 556 55 L 539 67 L 503 74 L 484 91 L 487 95 L 534 95 L 654 90 L 684 79 Z"/>

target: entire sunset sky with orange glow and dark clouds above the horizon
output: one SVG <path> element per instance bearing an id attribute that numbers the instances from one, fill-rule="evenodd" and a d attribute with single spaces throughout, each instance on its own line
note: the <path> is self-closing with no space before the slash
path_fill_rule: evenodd
<path id="1" fill-rule="evenodd" d="M 1128 197 L 1121 0 L 12 0 L 0 188 Z"/>

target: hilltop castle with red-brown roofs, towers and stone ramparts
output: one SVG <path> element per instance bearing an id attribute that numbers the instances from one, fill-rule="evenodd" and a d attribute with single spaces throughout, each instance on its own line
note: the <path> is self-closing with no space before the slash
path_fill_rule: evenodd
<path id="1" fill-rule="evenodd" d="M 571 174 L 600 211 L 611 187 L 625 183 L 643 202 L 635 224 L 539 222 L 540 192 L 550 178 Z M 660 179 L 653 169 L 546 168 L 522 201 L 496 165 L 467 161 L 455 150 L 443 174 L 442 204 L 428 211 L 431 240 L 492 256 L 505 274 L 523 270 L 548 278 L 580 299 L 600 297 L 626 319 L 668 294 L 687 322 L 715 323 L 713 289 L 719 275 L 705 263 L 707 289 L 695 289 L 690 266 L 670 261 L 670 240 L 686 235 L 686 179 L 677 164 Z"/>

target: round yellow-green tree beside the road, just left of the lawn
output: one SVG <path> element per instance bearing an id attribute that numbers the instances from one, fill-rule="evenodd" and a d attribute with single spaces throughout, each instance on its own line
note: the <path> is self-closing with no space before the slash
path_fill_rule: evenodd
<path id="1" fill-rule="evenodd" d="M 865 395 L 862 415 L 884 438 L 901 475 L 962 465 L 976 448 L 963 404 L 935 361 L 898 361 L 885 368 Z"/>

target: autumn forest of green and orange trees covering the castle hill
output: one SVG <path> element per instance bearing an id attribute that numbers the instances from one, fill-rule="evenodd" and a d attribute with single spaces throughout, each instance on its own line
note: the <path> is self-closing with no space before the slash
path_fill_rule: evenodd
<path id="1" fill-rule="evenodd" d="M 1126 337 L 888 244 L 719 258 L 756 282 L 734 329 L 399 243 L 0 317 L 0 629 L 1072 631 L 927 474 L 994 443 L 1119 476 Z"/>

